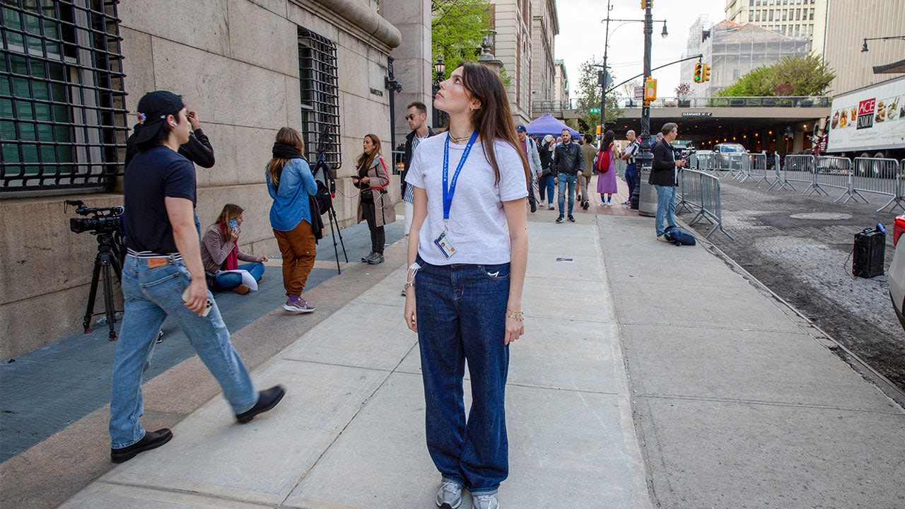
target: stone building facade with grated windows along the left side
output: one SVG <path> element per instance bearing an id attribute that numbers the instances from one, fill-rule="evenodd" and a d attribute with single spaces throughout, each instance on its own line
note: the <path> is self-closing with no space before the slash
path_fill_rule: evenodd
<path id="1" fill-rule="evenodd" d="M 63 200 L 122 205 L 123 144 L 146 91 L 181 94 L 214 146 L 214 168 L 197 168 L 202 226 L 239 204 L 243 250 L 270 256 L 279 251 L 263 172 L 277 130 L 302 131 L 311 158 L 319 133 L 334 134 L 334 206 L 349 226 L 362 137 L 391 149 L 388 57 L 404 88 L 397 126 L 406 102 L 430 98 L 427 0 L 23 5 L 0 5 L 0 359 L 81 331 L 97 244 L 70 231 Z M 117 283 L 114 293 L 119 303 Z"/>

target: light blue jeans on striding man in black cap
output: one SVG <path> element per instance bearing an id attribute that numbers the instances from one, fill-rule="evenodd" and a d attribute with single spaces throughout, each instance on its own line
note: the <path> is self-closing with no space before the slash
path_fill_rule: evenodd
<path id="1" fill-rule="evenodd" d="M 148 258 L 127 255 L 122 268 L 125 299 L 110 388 L 110 447 L 129 447 L 145 436 L 139 418 L 144 412 L 141 372 L 167 316 L 173 317 L 192 348 L 224 390 L 224 397 L 241 414 L 258 401 L 252 379 L 233 349 L 229 331 L 216 303 L 206 317 L 189 311 L 182 293 L 192 277 L 181 260 L 148 268 Z M 210 292 L 207 298 L 214 302 Z"/>

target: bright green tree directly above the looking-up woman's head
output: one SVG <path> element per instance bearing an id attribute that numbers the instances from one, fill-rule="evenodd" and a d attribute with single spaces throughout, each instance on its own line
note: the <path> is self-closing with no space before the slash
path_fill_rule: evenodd
<path id="1" fill-rule="evenodd" d="M 491 29 L 490 0 L 431 0 L 431 52 L 447 66 L 475 62 Z M 449 75 L 449 71 L 446 72 Z"/>

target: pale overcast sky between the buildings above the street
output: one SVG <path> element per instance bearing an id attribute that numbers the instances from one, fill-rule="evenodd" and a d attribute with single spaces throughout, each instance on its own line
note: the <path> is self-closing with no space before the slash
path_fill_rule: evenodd
<path id="1" fill-rule="evenodd" d="M 640 0 L 611 0 L 611 5 L 610 18 L 644 17 Z M 670 35 L 663 39 L 660 35 L 663 24 L 653 24 L 651 67 L 679 60 L 688 42 L 691 24 L 700 14 L 707 14 L 710 23 L 719 23 L 725 17 L 725 7 L 726 0 L 653 0 L 653 19 L 665 19 Z M 569 91 L 575 98 L 578 95 L 578 66 L 591 57 L 603 60 L 605 24 L 600 21 L 606 18 L 606 0 L 557 0 L 557 14 L 556 58 L 566 62 Z M 616 83 L 643 71 L 643 28 L 643 23 L 610 22 L 610 49 L 606 58 Z M 675 96 L 679 68 L 680 64 L 676 64 L 653 73 L 657 79 L 658 97 Z"/>

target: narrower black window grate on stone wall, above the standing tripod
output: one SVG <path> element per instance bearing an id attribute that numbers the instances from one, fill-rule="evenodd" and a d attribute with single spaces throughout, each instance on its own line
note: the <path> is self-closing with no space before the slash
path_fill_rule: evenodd
<path id="1" fill-rule="evenodd" d="M 311 161 L 324 144 L 330 167 L 342 166 L 339 140 L 339 87 L 337 45 L 326 37 L 299 27 L 299 87 L 301 96 L 301 136 Z M 331 143 L 325 143 L 324 132 Z"/>

